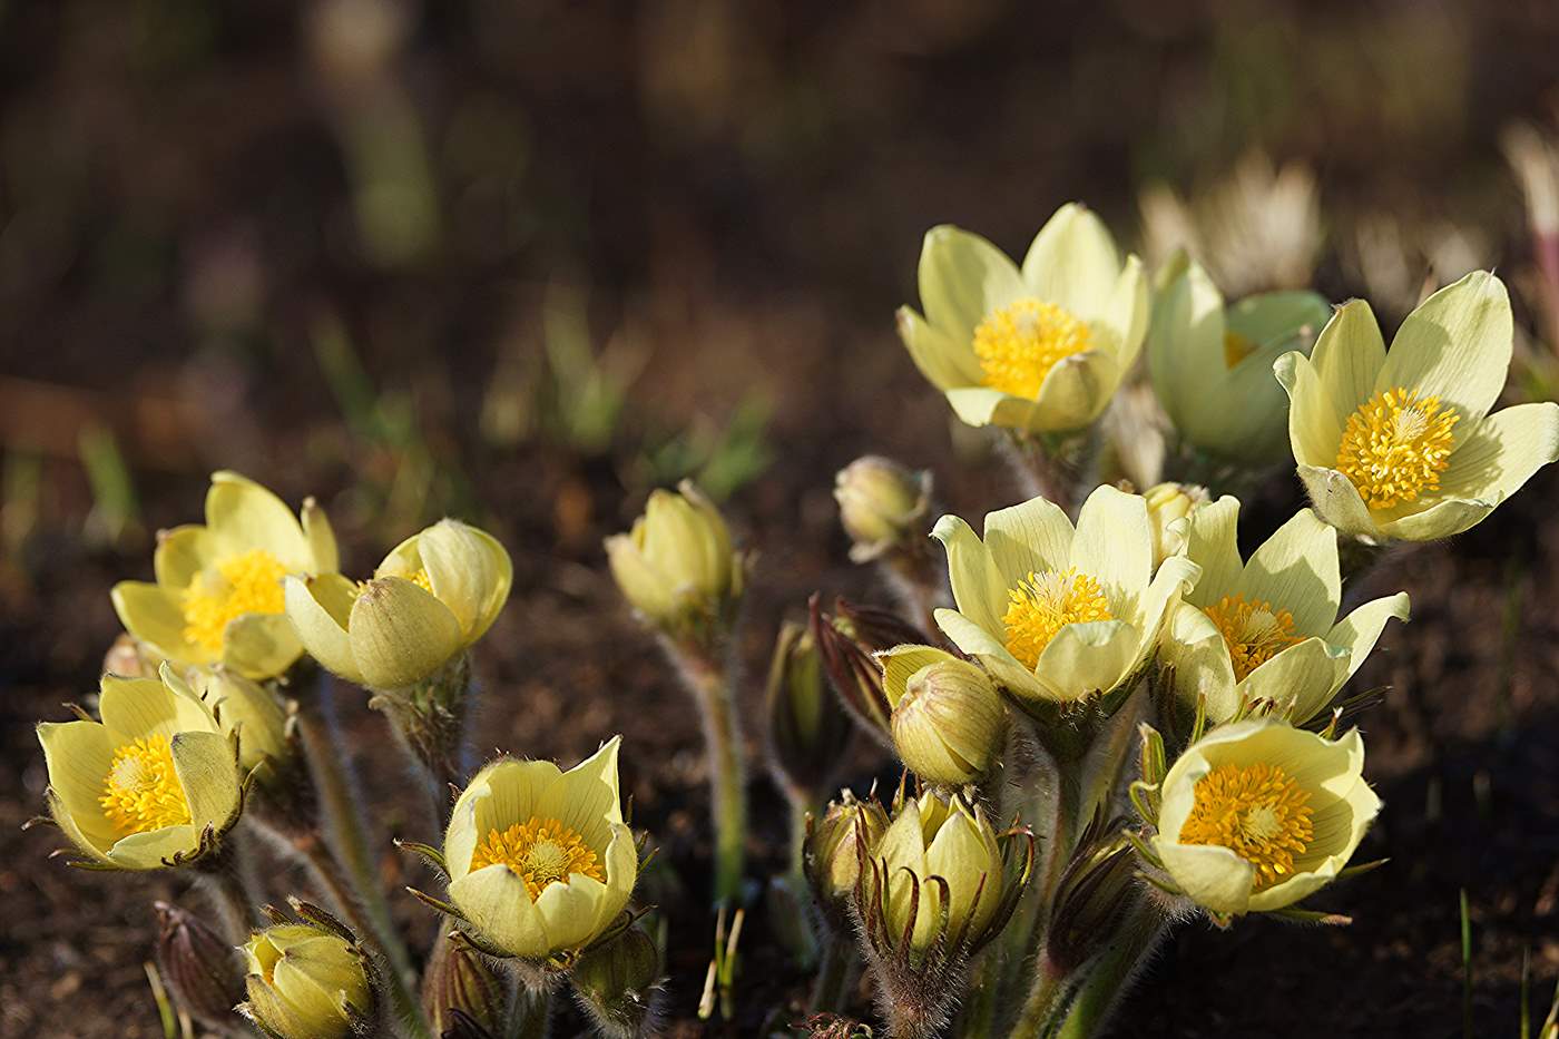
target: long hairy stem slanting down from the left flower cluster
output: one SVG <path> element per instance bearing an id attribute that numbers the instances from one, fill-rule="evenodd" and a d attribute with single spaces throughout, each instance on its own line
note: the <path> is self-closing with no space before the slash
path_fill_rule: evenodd
<path id="1" fill-rule="evenodd" d="M 391 988 L 407 988 L 416 977 L 412 956 L 401 941 L 390 900 L 385 897 L 369 852 L 368 827 L 362 817 L 362 797 L 348 771 L 346 747 L 335 725 L 335 680 L 321 672 L 313 711 L 298 713 L 298 735 L 309 760 L 309 774 L 320 797 L 324 824 L 331 838 L 334 861 L 341 869 L 334 875 L 345 880 L 362 906 L 368 928 L 390 961 L 390 973 L 398 977 Z M 426 1034 L 426 1033 L 421 1033 Z"/>

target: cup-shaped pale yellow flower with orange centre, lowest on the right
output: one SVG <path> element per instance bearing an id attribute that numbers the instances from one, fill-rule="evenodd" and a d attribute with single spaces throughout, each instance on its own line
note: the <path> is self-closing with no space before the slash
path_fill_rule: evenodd
<path id="1" fill-rule="evenodd" d="M 1380 811 L 1363 771 L 1358 730 L 1331 741 L 1275 719 L 1221 725 L 1165 777 L 1152 850 L 1213 913 L 1294 905 L 1347 866 Z"/>

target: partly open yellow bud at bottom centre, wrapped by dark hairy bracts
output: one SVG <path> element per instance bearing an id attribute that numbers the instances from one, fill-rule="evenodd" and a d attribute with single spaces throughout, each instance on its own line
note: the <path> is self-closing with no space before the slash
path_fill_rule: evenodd
<path id="1" fill-rule="evenodd" d="M 904 934 L 918 888 L 909 947 L 924 953 L 942 933 L 977 939 L 1007 894 L 1007 875 L 996 832 L 979 805 L 962 797 L 943 800 L 926 793 L 906 799 L 882 839 L 871 849 L 876 881 L 887 885 L 887 933 Z M 943 886 L 932 878 L 940 877 Z M 946 905 L 943 905 L 943 902 Z"/>

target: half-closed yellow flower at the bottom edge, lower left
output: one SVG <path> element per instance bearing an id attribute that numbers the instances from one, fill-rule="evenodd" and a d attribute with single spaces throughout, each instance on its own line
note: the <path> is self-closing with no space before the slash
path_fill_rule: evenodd
<path id="1" fill-rule="evenodd" d="M 374 998 L 363 955 L 310 924 L 278 924 L 243 945 L 248 1003 L 240 1009 L 281 1039 L 341 1039 L 368 1020 Z"/>

